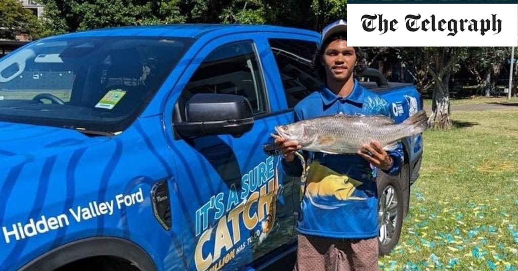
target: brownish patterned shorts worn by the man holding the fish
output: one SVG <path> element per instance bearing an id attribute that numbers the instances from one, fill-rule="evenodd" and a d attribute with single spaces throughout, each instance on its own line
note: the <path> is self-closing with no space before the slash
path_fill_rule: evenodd
<path id="1" fill-rule="evenodd" d="M 298 235 L 294 271 L 377 271 L 378 238 L 334 239 Z"/>

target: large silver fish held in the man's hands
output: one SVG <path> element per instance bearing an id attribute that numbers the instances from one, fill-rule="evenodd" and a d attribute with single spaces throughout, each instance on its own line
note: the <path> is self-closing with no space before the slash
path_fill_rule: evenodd
<path id="1" fill-rule="evenodd" d="M 382 115 L 333 115 L 279 125 L 275 131 L 285 139 L 298 141 L 303 150 L 343 154 L 356 153 L 372 140 L 389 150 L 397 140 L 419 134 L 426 127 L 426 112 L 420 110 L 399 124 Z"/>

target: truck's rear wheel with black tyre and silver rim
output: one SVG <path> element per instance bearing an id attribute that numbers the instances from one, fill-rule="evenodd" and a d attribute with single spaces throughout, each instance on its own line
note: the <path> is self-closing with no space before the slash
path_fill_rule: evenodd
<path id="1" fill-rule="evenodd" d="M 379 173 L 378 223 L 379 253 L 386 255 L 396 246 L 403 223 L 404 199 L 397 177 Z"/>

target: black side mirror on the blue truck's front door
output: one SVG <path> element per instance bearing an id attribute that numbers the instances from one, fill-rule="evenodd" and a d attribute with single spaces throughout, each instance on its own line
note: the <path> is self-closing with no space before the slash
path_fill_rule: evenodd
<path id="1" fill-rule="evenodd" d="M 252 106 L 243 96 L 199 93 L 186 102 L 185 121 L 175 123 L 174 129 L 182 138 L 222 134 L 239 137 L 253 124 Z"/>

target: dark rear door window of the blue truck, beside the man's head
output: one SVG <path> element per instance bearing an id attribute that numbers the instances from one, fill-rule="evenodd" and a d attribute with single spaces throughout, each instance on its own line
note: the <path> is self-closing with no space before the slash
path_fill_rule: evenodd
<path id="1" fill-rule="evenodd" d="M 289 108 L 322 87 L 323 83 L 313 70 L 315 42 L 294 39 L 269 39 L 282 78 Z"/>

